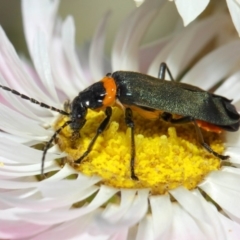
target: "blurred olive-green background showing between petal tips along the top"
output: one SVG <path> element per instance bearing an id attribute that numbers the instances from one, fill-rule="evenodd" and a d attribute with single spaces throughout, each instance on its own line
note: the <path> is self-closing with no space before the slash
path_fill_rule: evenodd
<path id="1" fill-rule="evenodd" d="M 76 42 L 80 46 L 92 38 L 99 20 L 110 10 L 111 16 L 106 38 L 106 52 L 109 54 L 119 25 L 138 5 L 139 2 L 134 0 L 62 0 L 59 6 L 59 15 L 63 19 L 67 15 L 74 17 Z M 154 24 L 146 33 L 143 43 L 167 35 L 179 20 L 180 16 L 175 4 L 166 0 L 165 7 L 159 12 Z M 182 21 L 180 20 L 179 23 L 182 24 Z M 26 53 L 20 0 L 0 0 L 0 24 L 16 50 Z"/>

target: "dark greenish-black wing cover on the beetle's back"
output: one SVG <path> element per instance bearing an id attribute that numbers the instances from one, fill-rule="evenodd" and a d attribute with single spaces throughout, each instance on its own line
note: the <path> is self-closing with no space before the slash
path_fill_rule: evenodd
<path id="1" fill-rule="evenodd" d="M 236 131 L 239 127 L 239 114 L 231 100 L 225 97 L 137 72 L 118 71 L 112 77 L 122 104 L 191 116 L 218 126 L 229 126 L 228 131 Z"/>

